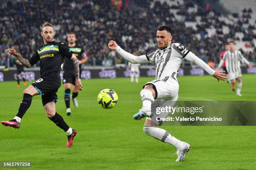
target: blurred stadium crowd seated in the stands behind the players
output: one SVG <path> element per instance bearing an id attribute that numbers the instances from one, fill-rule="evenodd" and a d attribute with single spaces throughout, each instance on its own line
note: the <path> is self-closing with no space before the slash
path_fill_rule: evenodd
<path id="1" fill-rule="evenodd" d="M 248 22 L 253 11 L 223 15 L 197 0 L 2 0 L 0 4 L 0 65 L 10 67 L 15 58 L 4 53 L 8 47 L 29 58 L 43 43 L 41 25 L 55 26 L 55 39 L 67 42 L 67 32 L 77 35 L 77 44 L 87 51 L 87 65 L 111 66 L 124 61 L 107 48 L 109 40 L 129 52 L 148 54 L 156 50 L 156 28 L 168 24 L 173 42 L 180 42 L 205 62 L 218 62 L 223 46 L 235 40 L 243 55 L 255 62 L 256 34 Z M 200 3 L 200 2 L 198 2 Z"/>

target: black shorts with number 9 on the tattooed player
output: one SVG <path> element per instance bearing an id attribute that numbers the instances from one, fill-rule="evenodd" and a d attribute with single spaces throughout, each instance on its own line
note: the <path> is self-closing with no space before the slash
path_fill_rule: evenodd
<path id="1" fill-rule="evenodd" d="M 60 78 L 58 76 L 49 76 L 36 80 L 33 85 L 42 96 L 43 106 L 49 102 L 57 102 L 58 96 L 56 92 L 61 86 Z"/>

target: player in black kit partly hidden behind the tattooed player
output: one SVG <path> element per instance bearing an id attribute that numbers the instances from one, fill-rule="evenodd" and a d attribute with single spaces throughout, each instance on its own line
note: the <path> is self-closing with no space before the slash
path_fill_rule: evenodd
<path id="1" fill-rule="evenodd" d="M 87 62 L 87 56 L 82 49 L 81 46 L 76 45 L 76 35 L 74 32 L 69 32 L 68 33 L 68 38 L 69 42 L 69 50 L 71 50 L 74 55 L 78 59 L 79 63 L 79 75 L 81 77 L 81 64 Z M 67 115 L 71 115 L 71 109 L 70 109 L 70 89 L 73 87 L 73 92 L 72 92 L 72 101 L 74 103 L 75 107 L 78 107 L 78 102 L 76 97 L 78 96 L 78 90 L 75 87 L 75 80 L 76 80 L 76 75 L 75 75 L 75 69 L 74 69 L 74 64 L 72 60 L 69 60 L 69 58 L 65 57 L 64 59 L 64 66 L 63 66 L 63 84 L 65 88 L 65 94 L 64 94 L 64 100 L 67 108 Z"/>

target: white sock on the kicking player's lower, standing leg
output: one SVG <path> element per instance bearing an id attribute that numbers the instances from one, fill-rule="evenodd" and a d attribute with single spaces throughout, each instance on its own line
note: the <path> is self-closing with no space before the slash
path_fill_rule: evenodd
<path id="1" fill-rule="evenodd" d="M 168 133 L 166 130 L 161 129 L 161 128 L 156 128 L 155 126 L 151 125 L 144 125 L 143 131 L 158 139 L 161 140 L 164 143 L 169 143 L 176 147 L 177 149 L 182 149 L 183 147 L 183 142 L 172 136 L 170 133 Z"/>

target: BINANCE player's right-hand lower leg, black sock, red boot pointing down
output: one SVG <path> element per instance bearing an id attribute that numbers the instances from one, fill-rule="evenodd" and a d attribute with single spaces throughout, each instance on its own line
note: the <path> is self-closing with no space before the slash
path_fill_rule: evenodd
<path id="1" fill-rule="evenodd" d="M 70 128 L 67 123 L 64 121 L 63 117 L 59 115 L 55 110 L 55 102 L 48 102 L 44 105 L 44 110 L 46 111 L 46 116 L 55 123 L 59 128 L 64 130 L 67 133 L 67 147 L 71 147 L 73 140 L 77 131 Z"/>

